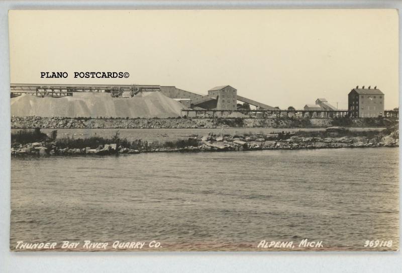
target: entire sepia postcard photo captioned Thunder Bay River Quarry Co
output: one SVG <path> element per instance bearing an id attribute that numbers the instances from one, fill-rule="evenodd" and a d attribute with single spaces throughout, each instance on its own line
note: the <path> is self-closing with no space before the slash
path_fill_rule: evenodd
<path id="1" fill-rule="evenodd" d="M 399 251 L 397 10 L 8 24 L 10 251 Z"/>

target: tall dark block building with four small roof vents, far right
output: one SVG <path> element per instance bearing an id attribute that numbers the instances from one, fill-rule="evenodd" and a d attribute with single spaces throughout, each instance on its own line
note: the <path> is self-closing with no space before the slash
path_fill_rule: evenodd
<path id="1" fill-rule="evenodd" d="M 384 93 L 377 86 L 353 88 L 348 95 L 349 115 L 354 118 L 378 117 L 384 115 Z"/>

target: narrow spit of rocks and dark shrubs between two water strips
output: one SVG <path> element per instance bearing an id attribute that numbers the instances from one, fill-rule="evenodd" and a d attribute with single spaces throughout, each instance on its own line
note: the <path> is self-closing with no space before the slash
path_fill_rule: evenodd
<path id="1" fill-rule="evenodd" d="M 148 142 L 141 139 L 128 141 L 119 131 L 111 138 L 60 138 L 57 131 L 50 136 L 40 132 L 22 130 L 12 134 L 13 155 L 63 155 L 118 153 L 173 152 L 173 151 L 244 151 L 261 149 L 316 149 L 342 147 L 394 147 L 398 145 L 398 125 L 382 132 L 350 131 L 331 128 L 330 131 L 299 131 L 272 134 L 253 133 L 228 135 L 209 133 L 184 140 Z"/>

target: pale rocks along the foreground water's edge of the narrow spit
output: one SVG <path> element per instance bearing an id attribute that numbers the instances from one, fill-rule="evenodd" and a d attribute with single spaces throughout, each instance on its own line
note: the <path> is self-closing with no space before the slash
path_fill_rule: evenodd
<path id="1" fill-rule="evenodd" d="M 14 156 L 55 156 L 55 155 L 117 155 L 138 154 L 150 152 L 219 152 L 219 151 L 253 151 L 253 150 L 301 150 L 328 148 L 375 148 L 397 147 L 398 133 L 374 138 L 367 137 L 300 137 L 294 134 L 283 136 L 272 134 L 254 134 L 249 136 L 215 135 L 210 133 L 193 139 L 198 145 L 185 147 L 149 147 L 139 146 L 138 149 L 123 147 L 117 143 L 99 145 L 97 147 L 65 147 L 61 148 L 57 141 L 34 142 L 27 144 L 12 144 L 11 154 Z"/>

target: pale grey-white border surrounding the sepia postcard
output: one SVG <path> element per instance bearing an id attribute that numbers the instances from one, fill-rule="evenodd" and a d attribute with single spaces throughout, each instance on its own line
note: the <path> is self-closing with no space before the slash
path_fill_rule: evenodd
<path id="1" fill-rule="evenodd" d="M 399 272 L 401 252 L 12 253 L 10 238 L 10 9 L 402 8 L 398 1 L 3 1 L 0 2 L 0 272 Z M 401 44 L 399 21 L 399 45 Z M 401 50 L 399 46 L 399 63 Z M 401 74 L 399 70 L 399 82 Z M 399 85 L 399 94 L 400 94 Z M 399 162 L 401 156 L 399 153 Z M 400 165 L 399 165 L 400 169 Z M 400 186 L 399 186 L 400 188 Z M 399 189 L 399 193 L 401 190 Z M 399 194 L 400 199 L 400 194 Z M 399 211 L 401 210 L 399 202 Z M 400 218 L 400 214 L 399 214 Z M 399 220 L 400 222 L 400 220 Z M 400 223 L 399 223 L 400 226 Z M 400 249 L 400 247 L 399 247 Z"/>

